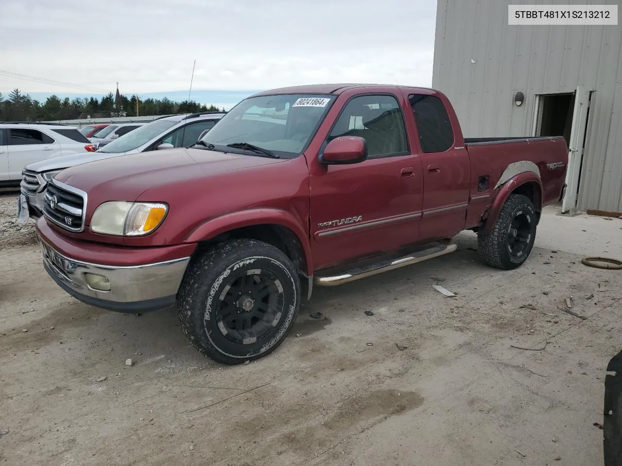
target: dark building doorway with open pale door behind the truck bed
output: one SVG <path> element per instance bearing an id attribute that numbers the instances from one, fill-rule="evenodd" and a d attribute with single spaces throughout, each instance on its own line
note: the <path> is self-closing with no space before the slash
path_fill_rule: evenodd
<path id="1" fill-rule="evenodd" d="M 562 213 L 577 211 L 579 185 L 587 140 L 588 116 L 594 91 L 578 87 L 573 93 L 536 96 L 533 134 L 563 136 L 569 148 L 566 194 Z"/>

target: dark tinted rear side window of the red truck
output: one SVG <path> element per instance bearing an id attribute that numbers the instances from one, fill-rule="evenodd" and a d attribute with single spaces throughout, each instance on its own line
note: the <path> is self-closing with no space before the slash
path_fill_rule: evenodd
<path id="1" fill-rule="evenodd" d="M 424 153 L 445 152 L 453 145 L 452 122 L 443 102 L 436 96 L 408 96 L 415 115 L 419 144 Z"/>

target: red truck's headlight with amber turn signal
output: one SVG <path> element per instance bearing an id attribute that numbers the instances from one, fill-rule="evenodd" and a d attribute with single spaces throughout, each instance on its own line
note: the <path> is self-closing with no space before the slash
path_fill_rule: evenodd
<path id="1" fill-rule="evenodd" d="M 162 224 L 168 210 L 164 203 L 103 203 L 93 212 L 91 231 L 117 236 L 146 235 Z"/>

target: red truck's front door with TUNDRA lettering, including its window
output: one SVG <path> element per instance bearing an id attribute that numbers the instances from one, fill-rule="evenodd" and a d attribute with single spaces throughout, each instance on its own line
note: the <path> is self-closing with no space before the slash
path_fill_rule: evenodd
<path id="1" fill-rule="evenodd" d="M 316 268 L 417 241 L 421 162 L 409 145 L 396 97 L 351 98 L 322 147 L 346 135 L 366 140 L 367 160 L 327 167 L 315 159 L 310 164 L 310 232 Z"/>

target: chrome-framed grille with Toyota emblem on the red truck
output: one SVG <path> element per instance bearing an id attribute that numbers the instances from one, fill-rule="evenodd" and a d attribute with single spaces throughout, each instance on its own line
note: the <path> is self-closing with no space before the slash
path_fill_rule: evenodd
<path id="1" fill-rule="evenodd" d="M 52 180 L 45 191 L 43 214 L 50 222 L 72 232 L 84 229 L 86 193 Z"/>

